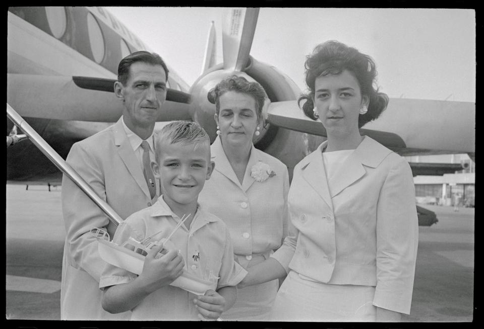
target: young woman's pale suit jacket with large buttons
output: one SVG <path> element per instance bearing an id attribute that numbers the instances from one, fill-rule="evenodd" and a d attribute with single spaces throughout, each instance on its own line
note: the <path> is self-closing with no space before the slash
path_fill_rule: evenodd
<path id="1" fill-rule="evenodd" d="M 375 306 L 408 314 L 418 243 L 410 166 L 366 136 L 327 182 L 326 143 L 294 168 L 291 232 L 273 257 L 310 280 L 376 286 Z"/>

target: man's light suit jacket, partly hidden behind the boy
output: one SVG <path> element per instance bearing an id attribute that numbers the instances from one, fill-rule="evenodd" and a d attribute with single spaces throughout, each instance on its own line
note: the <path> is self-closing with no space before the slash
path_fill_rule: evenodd
<path id="1" fill-rule="evenodd" d="M 75 143 L 67 162 L 106 201 L 126 219 L 154 201 L 150 197 L 142 168 L 123 128 L 122 118 L 114 125 Z M 157 180 L 159 186 L 159 181 Z M 101 307 L 99 278 L 105 262 L 97 250 L 97 240 L 89 231 L 107 228 L 112 237 L 116 227 L 77 185 L 64 175 L 62 207 L 66 243 L 61 286 L 61 318 L 70 320 L 129 319 L 130 312 L 110 314 Z"/>

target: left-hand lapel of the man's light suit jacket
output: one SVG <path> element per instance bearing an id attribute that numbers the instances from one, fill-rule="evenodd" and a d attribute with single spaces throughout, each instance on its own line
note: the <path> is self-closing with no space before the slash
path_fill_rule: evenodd
<path id="1" fill-rule="evenodd" d="M 139 187 L 145 193 L 148 199 L 151 200 L 150 191 L 146 185 L 140 163 L 138 163 L 136 154 L 134 153 L 130 141 L 126 136 L 126 132 L 123 128 L 123 123 L 121 120 L 123 120 L 123 117 L 121 117 L 113 126 L 114 143 L 117 146 L 117 152 L 125 163 L 126 168 L 128 168 L 128 171 L 131 173 L 131 176 L 133 176 L 136 183 L 138 183 Z"/>

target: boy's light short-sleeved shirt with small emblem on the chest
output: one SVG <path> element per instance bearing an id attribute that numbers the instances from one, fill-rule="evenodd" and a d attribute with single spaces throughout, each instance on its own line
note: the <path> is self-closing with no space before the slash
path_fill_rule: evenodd
<path id="1" fill-rule="evenodd" d="M 130 236 L 141 241 L 156 232 L 159 233 L 153 237 L 153 240 L 160 240 L 171 233 L 179 220 L 160 196 L 153 206 L 134 213 L 119 225 L 113 242 L 121 244 Z M 197 209 L 190 230 L 184 224 L 181 225 L 171 236 L 170 241 L 183 256 L 186 271 L 204 280 L 218 277 L 218 280 L 214 279 L 217 282 L 216 289 L 235 286 L 247 274 L 246 270 L 234 262 L 232 240 L 223 221 L 200 207 Z M 99 287 L 102 289 L 128 283 L 136 277 L 136 274 L 107 264 Z M 189 319 L 193 316 L 194 319 L 198 319 L 198 312 L 191 302 L 194 297 L 192 293 L 167 286 L 148 297 L 133 309 L 132 319 L 138 317 L 140 319 Z M 156 303 L 153 304 L 153 301 Z M 181 307 L 181 310 L 176 309 L 176 305 Z M 189 305 L 189 310 L 186 305 Z M 160 312 L 161 309 L 165 311 Z"/>

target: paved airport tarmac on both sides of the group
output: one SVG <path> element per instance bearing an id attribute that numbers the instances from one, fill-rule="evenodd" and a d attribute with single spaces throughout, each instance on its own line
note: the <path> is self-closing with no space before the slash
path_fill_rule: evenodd
<path id="1" fill-rule="evenodd" d="M 61 188 L 6 185 L 6 319 L 59 320 L 65 237 Z M 471 322 L 474 208 L 420 205 L 438 223 L 419 226 L 413 300 L 403 322 Z"/>

